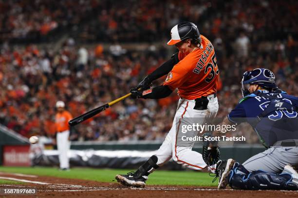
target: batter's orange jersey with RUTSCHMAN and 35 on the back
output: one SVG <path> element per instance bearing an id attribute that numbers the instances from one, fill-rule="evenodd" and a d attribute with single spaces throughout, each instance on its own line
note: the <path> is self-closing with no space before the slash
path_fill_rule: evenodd
<path id="1" fill-rule="evenodd" d="M 184 99 L 197 99 L 216 93 L 219 69 L 211 42 L 201 35 L 201 48 L 185 55 L 179 51 L 177 63 L 168 73 L 164 85 L 178 88 Z"/>

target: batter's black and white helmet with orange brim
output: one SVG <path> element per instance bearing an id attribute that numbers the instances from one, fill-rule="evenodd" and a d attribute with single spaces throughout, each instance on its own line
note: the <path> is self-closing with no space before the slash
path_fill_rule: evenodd
<path id="1" fill-rule="evenodd" d="M 188 38 L 197 41 L 200 37 L 198 27 L 194 23 L 188 21 L 182 22 L 171 29 L 171 40 L 168 41 L 168 45 L 175 45 Z"/>

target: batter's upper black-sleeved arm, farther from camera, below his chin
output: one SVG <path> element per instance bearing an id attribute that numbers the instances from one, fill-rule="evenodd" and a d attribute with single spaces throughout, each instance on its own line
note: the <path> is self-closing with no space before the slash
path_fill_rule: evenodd
<path id="1" fill-rule="evenodd" d="M 167 62 L 163 63 L 161 66 L 159 66 L 157 69 L 155 69 L 152 73 L 148 75 L 148 78 L 150 81 L 155 81 L 156 79 L 159 79 L 160 77 L 163 77 L 164 75 L 168 74 L 179 62 L 178 59 L 178 53 L 175 53 Z"/>

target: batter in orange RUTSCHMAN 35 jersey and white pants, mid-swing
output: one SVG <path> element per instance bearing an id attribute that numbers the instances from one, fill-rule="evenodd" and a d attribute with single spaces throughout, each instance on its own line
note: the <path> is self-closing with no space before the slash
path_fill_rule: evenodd
<path id="1" fill-rule="evenodd" d="M 204 168 L 214 171 L 215 165 L 208 166 L 201 153 L 192 150 L 194 141 L 185 141 L 195 137 L 198 131 L 185 133 L 186 125 L 205 123 L 205 118 L 213 118 L 218 111 L 216 97 L 219 69 L 211 42 L 200 35 L 197 26 L 191 22 L 182 22 L 171 29 L 168 45 L 175 45 L 179 52 L 158 67 L 135 88 L 130 90 L 133 98 L 161 99 L 168 97 L 176 88 L 180 96 L 178 108 L 162 146 L 136 172 L 117 175 L 118 182 L 136 187 L 144 187 L 148 175 L 171 158 L 178 164 L 194 170 Z M 168 74 L 165 82 L 150 89 L 152 81 Z M 195 121 L 189 118 L 197 118 Z M 198 119 L 199 118 L 199 119 Z M 188 119 L 188 120 L 187 120 Z M 196 122 L 196 123 L 194 123 Z M 218 148 L 211 148 L 218 154 Z M 211 152 L 211 151 L 208 151 Z M 218 156 L 216 157 L 216 160 Z M 214 163 L 212 163 L 214 164 Z"/>

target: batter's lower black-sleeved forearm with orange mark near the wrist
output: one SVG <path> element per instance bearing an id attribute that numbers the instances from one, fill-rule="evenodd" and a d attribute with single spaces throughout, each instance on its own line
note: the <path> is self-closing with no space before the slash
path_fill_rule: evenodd
<path id="1" fill-rule="evenodd" d="M 173 91 L 167 85 L 160 85 L 152 89 L 145 90 L 142 98 L 144 99 L 163 99 L 168 97 Z"/>

